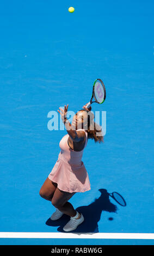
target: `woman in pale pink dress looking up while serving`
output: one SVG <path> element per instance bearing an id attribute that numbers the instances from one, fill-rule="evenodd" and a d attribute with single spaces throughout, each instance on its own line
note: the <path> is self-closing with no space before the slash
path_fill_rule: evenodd
<path id="1" fill-rule="evenodd" d="M 83 150 L 89 138 L 95 143 L 103 142 L 101 127 L 94 122 L 91 107 L 86 105 L 74 115 L 72 124 L 66 118 L 68 105 L 59 108 L 67 135 L 61 139 L 58 160 L 40 189 L 40 196 L 51 201 L 56 208 L 51 220 L 58 220 L 63 214 L 70 216 L 64 231 L 75 230 L 84 221 L 83 215 L 68 202 L 76 192 L 90 190 L 89 176 L 82 161 Z"/>

